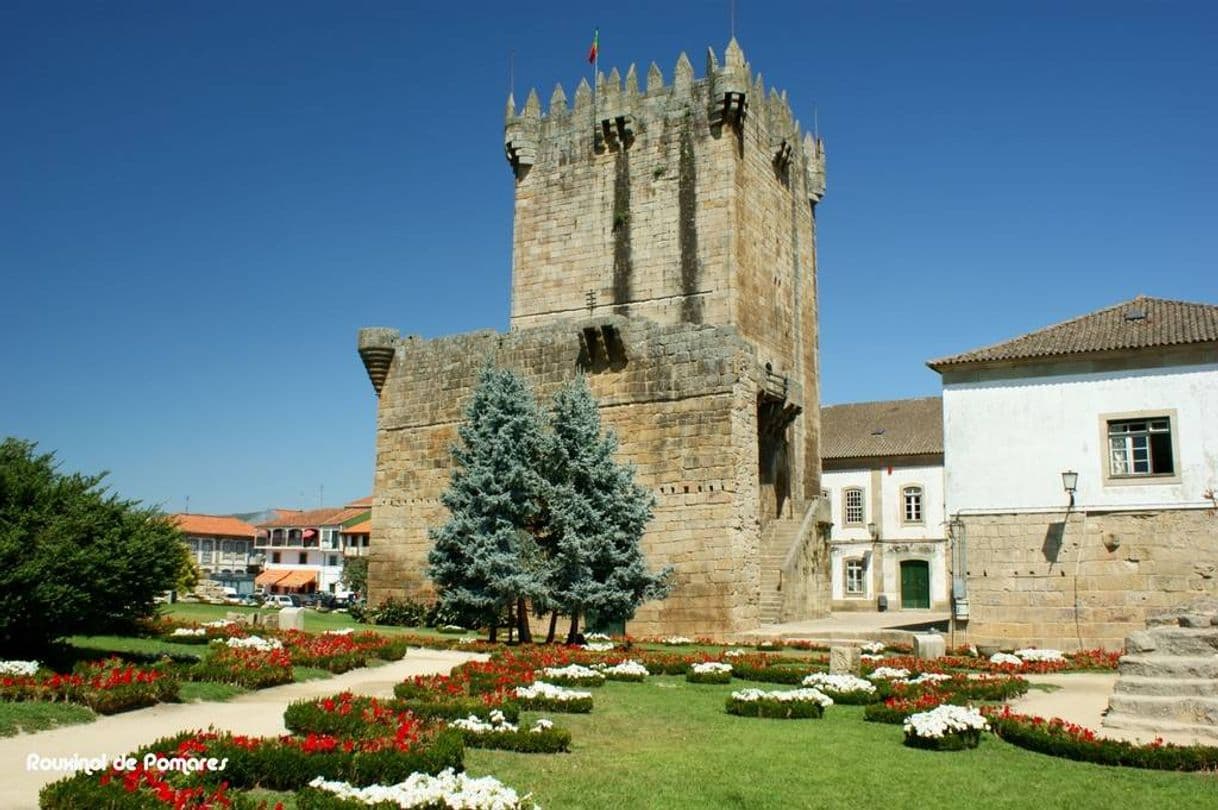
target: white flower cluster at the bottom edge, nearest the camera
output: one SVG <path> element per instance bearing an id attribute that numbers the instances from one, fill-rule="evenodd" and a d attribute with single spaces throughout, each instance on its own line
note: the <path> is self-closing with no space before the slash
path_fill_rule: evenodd
<path id="1" fill-rule="evenodd" d="M 317 777 L 309 787 L 333 793 L 341 799 L 398 808 L 443 806 L 453 810 L 515 810 L 521 799 L 515 791 L 492 776 L 474 778 L 446 769 L 436 776 L 412 773 L 397 784 L 371 784 L 357 788 L 346 782 L 328 782 Z"/>

